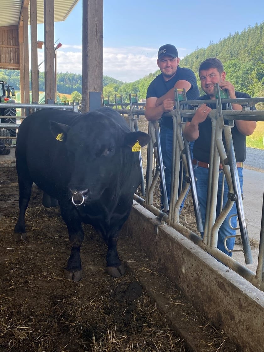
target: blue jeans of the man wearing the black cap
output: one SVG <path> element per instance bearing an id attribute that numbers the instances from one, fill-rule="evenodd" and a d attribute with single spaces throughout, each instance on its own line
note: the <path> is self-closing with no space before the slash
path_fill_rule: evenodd
<path id="1" fill-rule="evenodd" d="M 162 159 L 163 159 L 163 164 L 165 166 L 165 183 L 166 183 L 166 191 L 168 195 L 168 203 L 170 205 L 170 183 L 171 183 L 171 158 L 172 158 L 172 137 L 173 137 L 173 131 L 170 128 L 167 127 L 161 127 L 160 133 L 159 133 L 160 139 L 161 139 L 161 152 L 162 152 Z M 193 154 L 193 144 L 194 142 L 190 143 L 191 147 L 191 157 Z M 182 162 L 180 163 L 180 175 L 182 174 Z M 183 186 L 185 184 L 185 176 L 186 172 L 183 170 Z M 181 192 L 181 180 L 179 180 L 179 189 L 178 189 L 178 194 Z M 185 198 L 181 204 L 180 207 L 180 212 L 183 208 Z M 161 202 L 163 203 L 163 195 L 161 195 Z"/>

